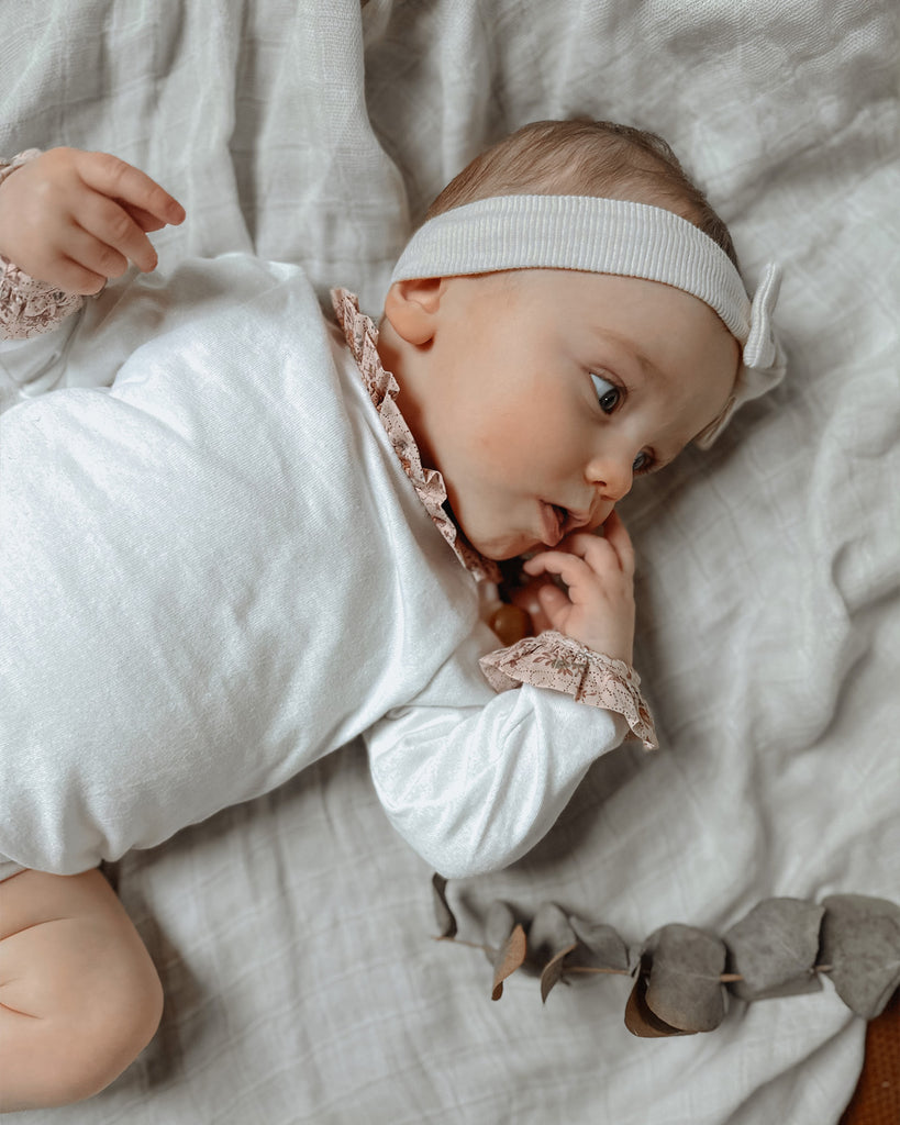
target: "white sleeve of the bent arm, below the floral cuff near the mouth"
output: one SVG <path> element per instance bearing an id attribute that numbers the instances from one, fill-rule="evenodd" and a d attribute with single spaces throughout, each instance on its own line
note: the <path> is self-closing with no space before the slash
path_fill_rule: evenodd
<path id="1" fill-rule="evenodd" d="M 405 708 L 367 731 L 376 791 L 394 827 L 440 874 L 498 870 L 552 827 L 626 719 L 523 683 L 495 694 L 477 640 Z M 482 649 L 484 651 L 484 649 Z"/>

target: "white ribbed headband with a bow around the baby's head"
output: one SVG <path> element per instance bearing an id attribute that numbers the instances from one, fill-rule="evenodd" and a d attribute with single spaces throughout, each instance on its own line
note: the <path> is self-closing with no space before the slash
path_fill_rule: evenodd
<path id="1" fill-rule="evenodd" d="M 494 196 L 421 226 L 390 284 L 413 278 L 565 269 L 645 278 L 683 289 L 719 314 L 742 350 L 734 395 L 698 439 L 709 446 L 735 408 L 784 377 L 772 327 L 781 268 L 766 267 L 750 300 L 731 259 L 693 223 L 662 207 L 595 196 Z"/>

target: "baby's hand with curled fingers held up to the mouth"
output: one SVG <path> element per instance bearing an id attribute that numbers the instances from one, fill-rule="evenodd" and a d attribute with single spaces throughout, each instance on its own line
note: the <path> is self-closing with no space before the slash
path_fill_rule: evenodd
<path id="1" fill-rule="evenodd" d="M 557 574 L 568 586 L 568 596 L 552 584 L 538 591 L 554 629 L 595 652 L 631 664 L 634 549 L 615 512 L 603 524 L 602 539 L 574 532 L 556 550 L 529 559 L 523 569 L 532 576 Z"/>

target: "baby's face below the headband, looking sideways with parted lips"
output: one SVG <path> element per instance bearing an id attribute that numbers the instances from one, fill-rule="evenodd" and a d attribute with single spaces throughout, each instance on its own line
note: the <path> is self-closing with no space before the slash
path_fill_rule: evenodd
<path id="1" fill-rule="evenodd" d="M 487 558 L 598 528 L 734 387 L 737 341 L 670 286 L 567 270 L 441 285 L 421 440 Z"/>

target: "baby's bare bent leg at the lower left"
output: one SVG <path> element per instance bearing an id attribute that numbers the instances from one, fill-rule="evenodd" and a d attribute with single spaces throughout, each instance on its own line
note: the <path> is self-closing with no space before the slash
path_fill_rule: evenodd
<path id="1" fill-rule="evenodd" d="M 99 871 L 0 882 L 0 1113 L 97 1094 L 161 1015 L 150 954 Z"/>

